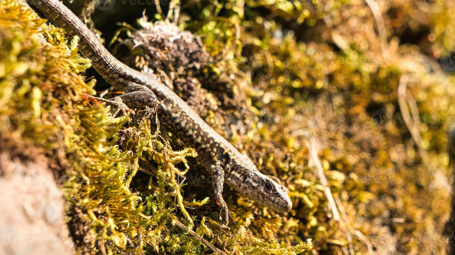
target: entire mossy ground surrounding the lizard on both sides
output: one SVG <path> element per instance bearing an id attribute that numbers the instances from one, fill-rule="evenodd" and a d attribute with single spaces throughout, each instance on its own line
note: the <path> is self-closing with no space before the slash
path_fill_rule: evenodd
<path id="1" fill-rule="evenodd" d="M 279 177 L 293 209 L 227 188 L 238 224 L 221 230 L 193 149 L 154 118 L 111 119 L 83 94 L 108 84 L 77 40 L 0 1 L 0 137 L 55 164 L 76 250 L 213 253 L 181 221 L 227 254 L 445 254 L 455 2 L 156 3 L 66 2 L 116 57 Z"/>

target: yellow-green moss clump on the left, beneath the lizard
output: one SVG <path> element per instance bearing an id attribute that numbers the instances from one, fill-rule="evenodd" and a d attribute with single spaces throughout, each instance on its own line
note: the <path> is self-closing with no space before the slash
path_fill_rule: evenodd
<path id="1" fill-rule="evenodd" d="M 209 200 L 182 196 L 194 150 L 174 151 L 154 122 L 121 128 L 126 118 L 112 119 L 109 108 L 84 95 L 93 92 L 93 83 L 77 75 L 90 66 L 77 54 L 77 38 L 68 44 L 61 29 L 13 1 L 1 2 L 0 13 L 2 142 L 55 158 L 80 252 L 212 252 L 175 221 L 238 253 L 297 254 L 311 248 L 310 243 L 264 243 L 242 231 L 221 230 L 221 221 L 203 212 L 190 215 L 185 208 Z"/>

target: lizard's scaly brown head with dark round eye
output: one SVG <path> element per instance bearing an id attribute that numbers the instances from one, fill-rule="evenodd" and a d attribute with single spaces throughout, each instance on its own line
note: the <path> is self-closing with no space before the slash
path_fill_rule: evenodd
<path id="1" fill-rule="evenodd" d="M 288 189 L 278 183 L 277 177 L 270 177 L 256 170 L 246 171 L 238 178 L 229 179 L 227 183 L 233 189 L 274 211 L 287 212 L 292 208 Z"/>

